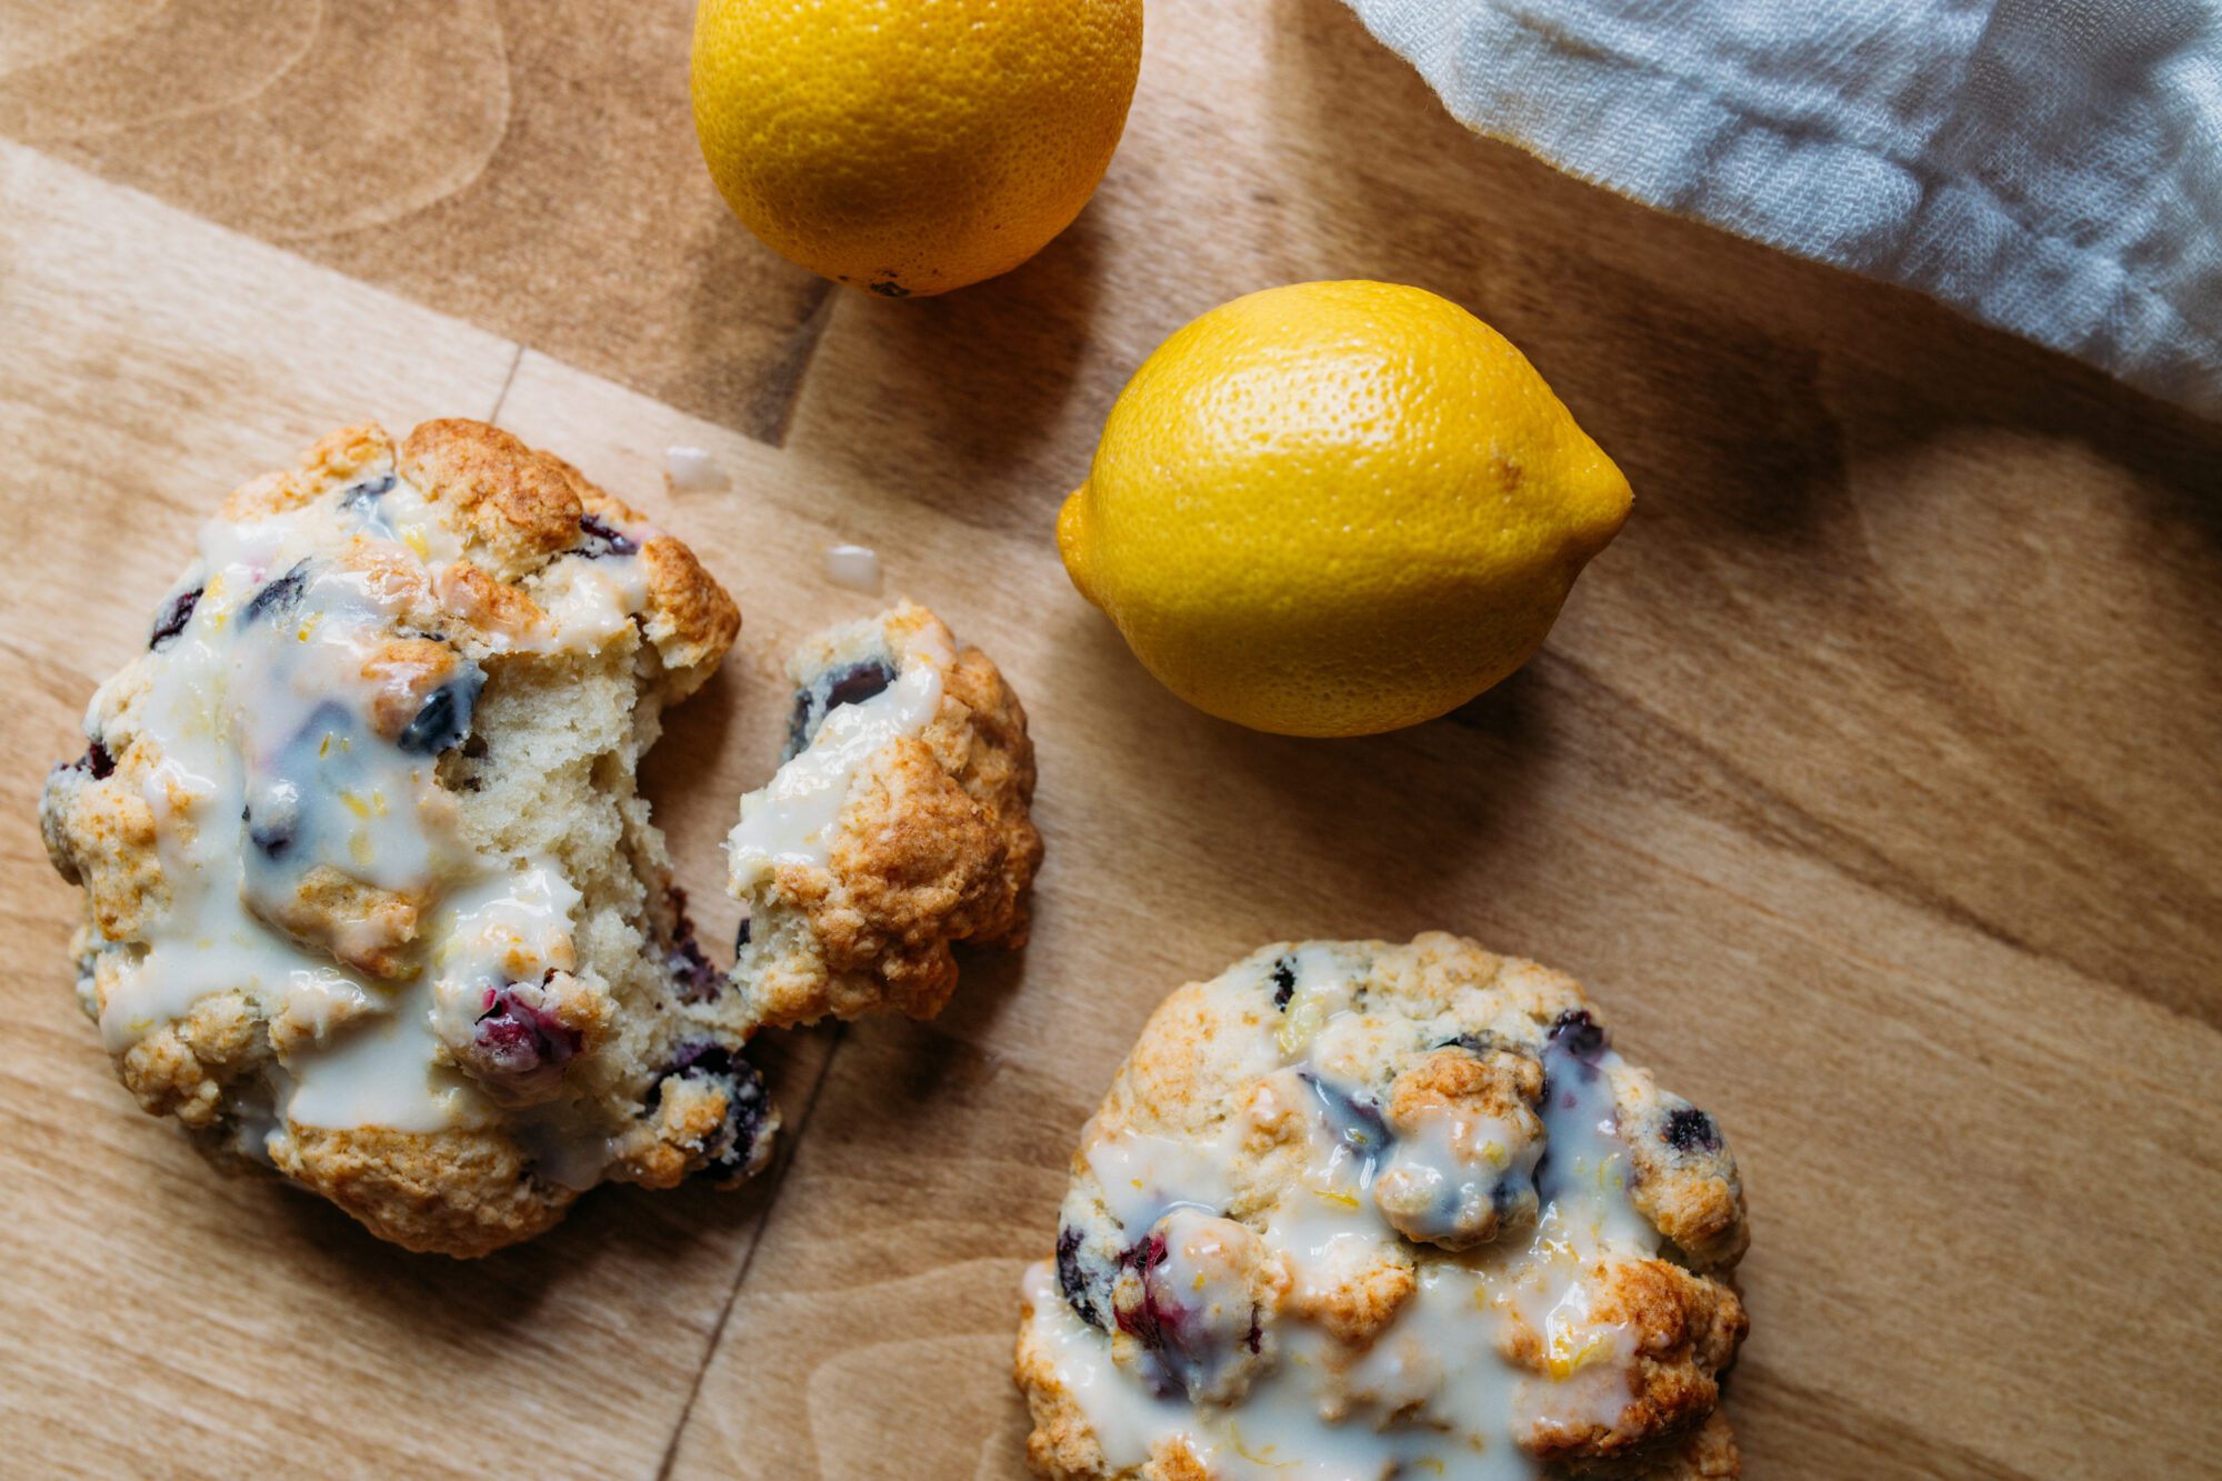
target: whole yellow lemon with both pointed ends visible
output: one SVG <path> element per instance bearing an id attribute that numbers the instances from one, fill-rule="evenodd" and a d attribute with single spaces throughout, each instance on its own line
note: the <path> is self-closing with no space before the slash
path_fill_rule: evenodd
<path id="1" fill-rule="evenodd" d="M 1362 736 L 1527 663 L 1629 498 L 1482 320 L 1413 287 L 1300 282 L 1142 362 L 1058 549 L 1198 709 Z"/>

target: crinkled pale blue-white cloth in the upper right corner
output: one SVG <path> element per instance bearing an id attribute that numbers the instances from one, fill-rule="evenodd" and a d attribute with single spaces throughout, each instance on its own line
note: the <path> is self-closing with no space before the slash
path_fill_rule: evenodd
<path id="1" fill-rule="evenodd" d="M 1349 0 L 1469 127 L 2222 416 L 2222 0 Z"/>

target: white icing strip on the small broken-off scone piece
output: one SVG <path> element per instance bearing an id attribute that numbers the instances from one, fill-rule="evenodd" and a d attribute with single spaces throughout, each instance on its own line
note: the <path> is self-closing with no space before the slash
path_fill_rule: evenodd
<path id="1" fill-rule="evenodd" d="M 882 745 L 915 736 L 933 720 L 949 660 L 947 645 L 915 634 L 895 683 L 869 700 L 835 707 L 800 756 L 740 798 L 740 823 L 727 838 L 735 889 L 758 885 L 780 865 L 824 869 L 831 863 L 842 803 L 858 772 Z"/>

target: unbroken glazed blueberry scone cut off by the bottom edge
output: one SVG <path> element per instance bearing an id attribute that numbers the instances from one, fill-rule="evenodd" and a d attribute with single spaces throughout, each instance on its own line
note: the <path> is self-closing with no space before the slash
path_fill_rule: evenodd
<path id="1" fill-rule="evenodd" d="M 1082 1132 L 1018 1383 L 1044 1477 L 1735 1477 L 1735 1161 L 1580 987 L 1427 934 L 1155 1012 Z"/>

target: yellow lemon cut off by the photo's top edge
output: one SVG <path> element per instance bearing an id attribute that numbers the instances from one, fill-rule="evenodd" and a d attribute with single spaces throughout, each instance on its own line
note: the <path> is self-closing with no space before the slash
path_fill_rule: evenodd
<path id="1" fill-rule="evenodd" d="M 1080 216 L 1140 64 L 1142 0 L 702 0 L 695 133 L 780 256 L 942 294 Z"/>

